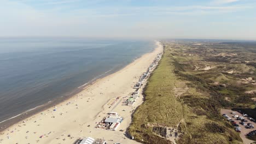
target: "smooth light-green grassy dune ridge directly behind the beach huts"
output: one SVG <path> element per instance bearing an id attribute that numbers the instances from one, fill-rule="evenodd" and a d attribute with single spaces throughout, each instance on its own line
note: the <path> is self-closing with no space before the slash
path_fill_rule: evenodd
<path id="1" fill-rule="evenodd" d="M 158 68 L 150 77 L 146 91 L 145 102 L 138 107 L 133 115 L 133 122 L 129 129 L 135 139 L 144 143 L 168 143 L 153 134 L 153 125 L 175 126 L 183 118 L 182 104 L 175 98 L 174 84 L 176 76 L 171 59 L 165 50 Z"/>

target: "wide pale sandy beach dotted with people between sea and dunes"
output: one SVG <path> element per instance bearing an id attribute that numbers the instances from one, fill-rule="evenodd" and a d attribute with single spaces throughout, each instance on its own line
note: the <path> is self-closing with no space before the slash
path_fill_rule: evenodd
<path id="1" fill-rule="evenodd" d="M 74 143 L 80 137 L 104 139 L 107 143 L 138 143 L 125 136 L 131 123 L 131 113 L 142 104 L 140 97 L 135 105 L 122 105 L 135 89 L 139 76 L 147 71 L 162 45 L 136 59 L 125 68 L 84 88 L 72 98 L 14 124 L 0 134 L 0 143 Z M 120 97 L 115 105 L 109 105 Z M 117 131 L 95 128 L 96 123 L 110 111 L 118 112 L 124 121 Z M 90 127 L 88 127 L 90 125 Z M 123 129 L 124 131 L 119 131 Z"/>

